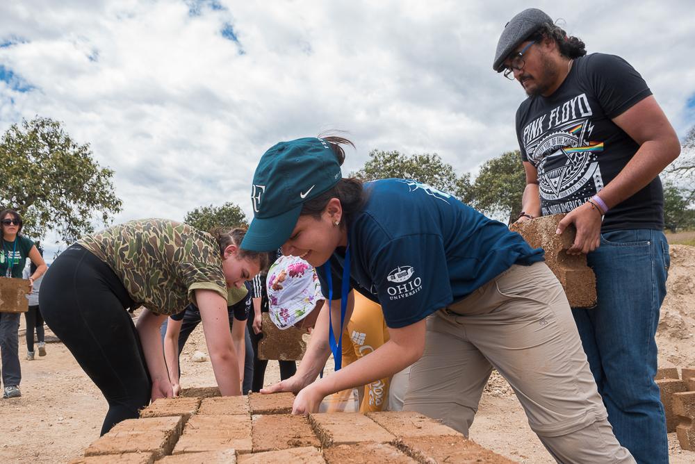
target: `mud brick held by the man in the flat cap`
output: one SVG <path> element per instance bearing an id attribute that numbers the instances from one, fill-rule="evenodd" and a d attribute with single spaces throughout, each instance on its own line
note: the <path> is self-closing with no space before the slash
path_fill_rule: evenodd
<path id="1" fill-rule="evenodd" d="M 509 230 L 518 232 L 533 248 L 546 251 L 546 264 L 562 283 L 570 306 L 591 308 L 596 304 L 596 276 L 587 266 L 587 255 L 569 255 L 577 231 L 569 226 L 562 235 L 557 235 L 557 224 L 564 214 L 543 216 L 532 221 L 512 224 Z"/>

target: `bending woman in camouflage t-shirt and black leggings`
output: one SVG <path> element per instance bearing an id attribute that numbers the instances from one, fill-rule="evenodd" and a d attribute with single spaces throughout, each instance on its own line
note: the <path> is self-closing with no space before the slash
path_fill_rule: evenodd
<path id="1" fill-rule="evenodd" d="M 167 219 L 140 219 L 87 235 L 60 254 L 41 288 L 44 320 L 108 401 L 103 435 L 172 396 L 159 327 L 198 306 L 222 395 L 240 395 L 227 319 L 227 289 L 240 288 L 267 255 L 238 246 L 245 230 L 204 233 Z M 133 324 L 124 309 L 144 306 Z"/>

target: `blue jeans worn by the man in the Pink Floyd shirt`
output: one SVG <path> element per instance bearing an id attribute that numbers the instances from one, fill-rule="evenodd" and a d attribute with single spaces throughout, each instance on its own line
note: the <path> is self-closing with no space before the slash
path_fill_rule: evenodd
<path id="1" fill-rule="evenodd" d="M 666 417 L 654 381 L 654 337 L 671 265 L 666 237 L 650 229 L 603 233 L 587 261 L 598 304 L 572 311 L 608 420 L 638 463 L 668 463 Z"/>

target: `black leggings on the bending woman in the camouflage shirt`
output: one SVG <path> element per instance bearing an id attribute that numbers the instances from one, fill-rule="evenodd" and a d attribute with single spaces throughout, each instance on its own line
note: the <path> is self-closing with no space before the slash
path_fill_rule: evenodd
<path id="1" fill-rule="evenodd" d="M 152 382 L 131 315 L 133 300 L 106 263 L 80 245 L 63 251 L 44 276 L 44 320 L 108 401 L 101 435 L 149 404 Z"/>

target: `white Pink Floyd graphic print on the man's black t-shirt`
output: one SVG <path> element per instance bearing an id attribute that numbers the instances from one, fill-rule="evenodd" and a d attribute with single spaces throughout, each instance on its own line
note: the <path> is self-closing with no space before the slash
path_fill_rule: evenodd
<path id="1" fill-rule="evenodd" d="M 544 216 L 569 213 L 603 188 L 598 165 L 603 142 L 591 140 L 593 114 L 582 93 L 523 129 L 523 148 L 538 171 Z"/>

